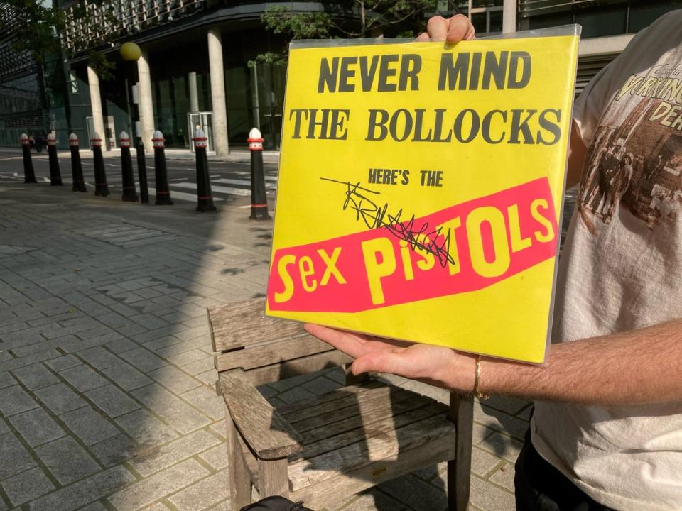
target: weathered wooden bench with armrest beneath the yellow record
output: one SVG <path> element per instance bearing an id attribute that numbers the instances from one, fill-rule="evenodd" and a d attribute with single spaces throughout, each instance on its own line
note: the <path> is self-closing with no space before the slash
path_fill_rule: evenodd
<path id="1" fill-rule="evenodd" d="M 283 495 L 314 510 L 384 480 L 448 462 L 450 511 L 469 501 L 472 399 L 450 406 L 346 372 L 347 386 L 274 408 L 256 386 L 350 365 L 352 359 L 303 331 L 266 317 L 264 299 L 208 309 L 227 405 L 231 509 Z"/>

